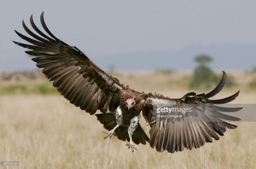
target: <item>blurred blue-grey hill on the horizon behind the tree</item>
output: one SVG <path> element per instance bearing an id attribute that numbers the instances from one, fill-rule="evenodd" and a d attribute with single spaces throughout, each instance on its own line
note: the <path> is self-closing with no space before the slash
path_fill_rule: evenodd
<path id="1" fill-rule="evenodd" d="M 86 53 L 86 51 L 84 51 Z M 256 67 L 256 46 L 245 44 L 210 44 L 189 45 L 182 49 L 172 51 L 141 51 L 132 53 L 120 53 L 108 56 L 89 55 L 103 70 L 124 71 L 153 71 L 155 69 L 170 69 L 175 71 L 187 71 L 196 68 L 194 58 L 200 54 L 209 55 L 213 62 L 210 67 L 213 70 L 252 70 Z M 104 58 L 104 59 L 102 59 Z M 121 58 L 121 59 L 120 59 Z"/>

